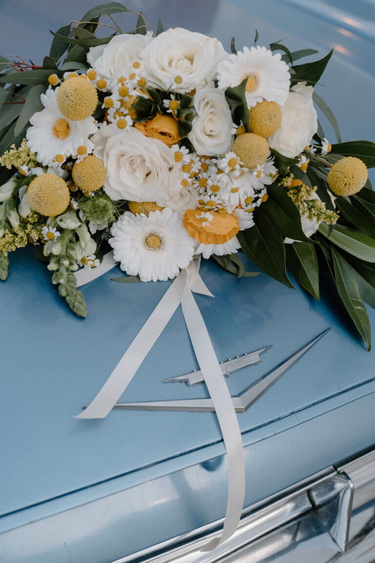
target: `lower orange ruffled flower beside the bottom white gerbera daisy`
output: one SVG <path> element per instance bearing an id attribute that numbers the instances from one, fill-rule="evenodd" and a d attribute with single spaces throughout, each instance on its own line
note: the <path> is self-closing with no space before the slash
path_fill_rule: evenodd
<path id="1" fill-rule="evenodd" d="M 187 209 L 184 213 L 183 225 L 189 235 L 203 244 L 224 244 L 236 236 L 240 230 L 238 219 L 230 213 L 215 213 L 211 221 L 202 221 L 202 209 Z M 207 225 L 207 223 L 209 223 Z M 205 224 L 205 226 L 204 226 Z"/>

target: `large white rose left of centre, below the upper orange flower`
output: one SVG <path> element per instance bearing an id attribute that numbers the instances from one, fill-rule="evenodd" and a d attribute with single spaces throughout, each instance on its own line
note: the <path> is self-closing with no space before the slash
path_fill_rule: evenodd
<path id="1" fill-rule="evenodd" d="M 105 125 L 93 137 L 94 155 L 107 168 L 105 192 L 111 199 L 156 202 L 178 193 L 173 150 L 162 141 L 128 127 Z"/>

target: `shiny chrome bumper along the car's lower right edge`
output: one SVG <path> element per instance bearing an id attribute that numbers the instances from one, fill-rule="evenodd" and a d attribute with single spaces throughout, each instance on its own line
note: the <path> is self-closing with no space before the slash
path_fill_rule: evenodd
<path id="1" fill-rule="evenodd" d="M 236 533 L 201 547 L 222 520 L 114 563 L 372 563 L 375 561 L 375 449 L 243 511 Z"/>

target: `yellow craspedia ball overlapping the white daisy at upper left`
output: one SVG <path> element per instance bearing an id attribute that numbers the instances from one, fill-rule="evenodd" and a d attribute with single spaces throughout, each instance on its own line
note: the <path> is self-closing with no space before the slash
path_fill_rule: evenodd
<path id="1" fill-rule="evenodd" d="M 56 101 L 62 115 L 71 121 L 81 121 L 92 115 L 98 104 L 98 93 L 88 80 L 69 78 L 57 90 Z"/>

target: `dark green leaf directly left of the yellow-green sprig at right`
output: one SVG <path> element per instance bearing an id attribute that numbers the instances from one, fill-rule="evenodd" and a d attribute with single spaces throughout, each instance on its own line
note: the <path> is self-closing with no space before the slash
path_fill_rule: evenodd
<path id="1" fill-rule="evenodd" d="M 271 184 L 267 186 L 267 193 L 269 199 L 265 205 L 265 212 L 270 214 L 271 220 L 282 234 L 290 239 L 311 244 L 313 241 L 302 231 L 300 212 L 286 191 L 278 185 Z"/>

